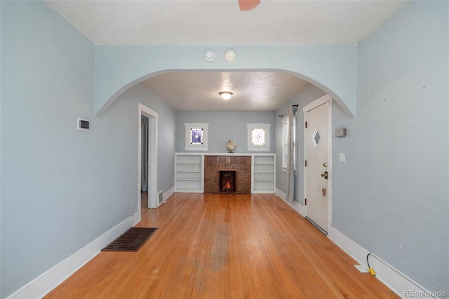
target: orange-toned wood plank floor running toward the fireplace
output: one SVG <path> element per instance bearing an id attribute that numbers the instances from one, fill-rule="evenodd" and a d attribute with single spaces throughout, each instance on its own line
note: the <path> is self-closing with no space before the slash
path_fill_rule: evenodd
<path id="1" fill-rule="evenodd" d="M 173 194 L 46 298 L 397 298 L 273 194 Z"/>

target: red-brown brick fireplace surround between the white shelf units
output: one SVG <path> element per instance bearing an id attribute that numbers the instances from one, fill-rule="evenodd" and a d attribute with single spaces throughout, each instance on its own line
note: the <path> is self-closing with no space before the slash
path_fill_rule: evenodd
<path id="1" fill-rule="evenodd" d="M 220 171 L 235 171 L 235 193 L 251 193 L 250 156 L 204 156 L 204 193 L 220 192 Z"/>

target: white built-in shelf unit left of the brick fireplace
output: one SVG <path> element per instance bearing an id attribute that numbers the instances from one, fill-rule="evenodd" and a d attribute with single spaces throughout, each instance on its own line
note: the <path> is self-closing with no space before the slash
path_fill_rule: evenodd
<path id="1" fill-rule="evenodd" d="M 175 153 L 175 192 L 203 193 L 203 154 Z"/>

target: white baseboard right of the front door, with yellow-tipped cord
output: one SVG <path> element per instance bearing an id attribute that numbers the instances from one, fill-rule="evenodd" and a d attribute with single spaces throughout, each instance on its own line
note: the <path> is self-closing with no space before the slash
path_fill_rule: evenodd
<path id="1" fill-rule="evenodd" d="M 370 253 L 365 248 L 356 244 L 356 242 L 349 239 L 347 236 L 342 234 L 335 227 L 330 227 L 328 231 L 328 237 L 337 246 L 342 248 L 351 258 L 354 258 L 356 262 L 363 265 L 368 269 L 366 262 L 366 255 Z M 407 277 L 399 270 L 395 269 L 393 266 L 389 265 L 387 262 L 377 257 L 377 255 L 371 253 L 369 257 L 370 267 L 376 272 L 376 278 L 379 279 L 382 284 L 387 286 L 391 291 L 394 291 L 401 298 L 437 298 L 432 297 L 432 293 L 426 288 L 417 284 L 417 282 Z M 368 274 L 369 275 L 369 274 Z M 406 293 L 408 292 L 408 293 Z M 413 295 L 411 295 L 413 293 Z"/>

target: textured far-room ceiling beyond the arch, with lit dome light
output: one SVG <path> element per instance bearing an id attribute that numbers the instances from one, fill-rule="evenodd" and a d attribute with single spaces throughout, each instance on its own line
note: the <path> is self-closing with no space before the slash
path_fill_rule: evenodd
<path id="1" fill-rule="evenodd" d="M 307 82 L 277 72 L 180 72 L 161 74 L 145 85 L 178 110 L 275 111 Z M 231 91 L 232 98 L 222 100 L 220 91 Z"/>

